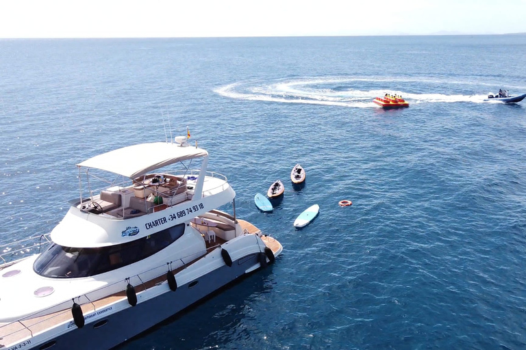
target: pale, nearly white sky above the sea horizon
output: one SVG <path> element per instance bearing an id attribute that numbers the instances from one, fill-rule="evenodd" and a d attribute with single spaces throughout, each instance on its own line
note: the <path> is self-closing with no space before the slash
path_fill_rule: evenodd
<path id="1" fill-rule="evenodd" d="M 526 0 L 0 0 L 0 38 L 526 32 Z"/>

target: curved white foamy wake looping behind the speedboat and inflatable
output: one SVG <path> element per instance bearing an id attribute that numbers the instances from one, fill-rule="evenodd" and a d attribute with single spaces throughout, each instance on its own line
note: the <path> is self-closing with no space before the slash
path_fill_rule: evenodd
<path id="1" fill-rule="evenodd" d="M 488 90 L 484 84 L 455 81 L 440 81 L 425 78 L 393 77 L 317 77 L 279 79 L 275 81 L 246 81 L 231 83 L 214 90 L 217 94 L 237 100 L 260 100 L 278 103 L 305 103 L 311 105 L 333 105 L 354 108 L 377 108 L 376 96 L 398 94 L 410 103 L 487 103 L 486 94 L 446 94 L 414 92 L 416 86 L 424 84 L 439 86 L 434 90 Z M 484 87 L 480 87 L 483 85 Z M 394 87 L 399 87 L 397 90 Z M 454 89 L 451 89 L 451 86 Z M 492 86 L 492 85 L 491 85 Z M 430 89 L 431 90 L 431 89 Z"/>

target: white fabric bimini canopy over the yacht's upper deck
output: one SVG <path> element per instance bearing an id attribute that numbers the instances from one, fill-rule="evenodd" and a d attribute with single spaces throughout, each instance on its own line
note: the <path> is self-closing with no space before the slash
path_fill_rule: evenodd
<path id="1" fill-rule="evenodd" d="M 166 165 L 206 156 L 208 152 L 203 148 L 154 142 L 99 154 L 77 164 L 77 167 L 92 167 L 128 178 L 136 178 Z"/>

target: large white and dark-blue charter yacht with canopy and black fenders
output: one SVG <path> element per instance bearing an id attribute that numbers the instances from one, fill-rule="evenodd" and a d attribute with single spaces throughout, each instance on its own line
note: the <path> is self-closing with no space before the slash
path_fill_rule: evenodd
<path id="1" fill-rule="evenodd" d="M 176 140 L 77 164 L 80 198 L 38 237 L 47 247 L 13 261 L 0 250 L 0 349 L 110 349 L 281 253 L 236 217 L 208 152 Z M 230 202 L 233 215 L 218 211 Z"/>

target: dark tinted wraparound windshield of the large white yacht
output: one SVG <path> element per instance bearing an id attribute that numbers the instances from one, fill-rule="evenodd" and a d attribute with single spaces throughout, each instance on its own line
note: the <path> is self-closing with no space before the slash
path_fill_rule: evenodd
<path id="1" fill-rule="evenodd" d="M 148 237 L 98 248 L 53 244 L 35 260 L 33 269 L 48 278 L 81 278 L 99 275 L 145 259 L 168 247 L 184 234 L 184 224 Z"/>

